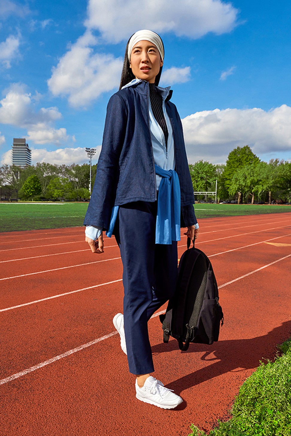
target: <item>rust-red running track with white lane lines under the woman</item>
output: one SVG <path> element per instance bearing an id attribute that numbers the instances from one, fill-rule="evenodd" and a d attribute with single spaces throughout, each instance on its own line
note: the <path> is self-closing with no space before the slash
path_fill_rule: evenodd
<path id="1" fill-rule="evenodd" d="M 291 214 L 199 223 L 225 324 L 215 344 L 181 353 L 149 321 L 155 375 L 185 400 L 172 411 L 135 399 L 112 324 L 123 297 L 114 238 L 94 255 L 83 228 L 0 235 L 1 436 L 185 436 L 228 417 L 243 381 L 291 336 Z"/>

